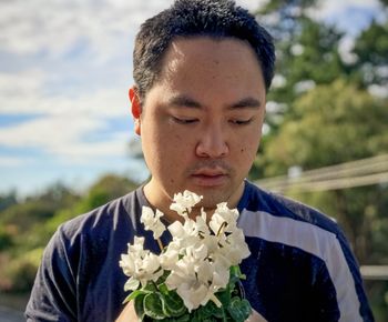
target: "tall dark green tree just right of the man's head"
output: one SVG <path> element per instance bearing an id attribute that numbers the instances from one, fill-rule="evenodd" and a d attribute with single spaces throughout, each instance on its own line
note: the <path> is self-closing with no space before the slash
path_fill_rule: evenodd
<path id="1" fill-rule="evenodd" d="M 266 117 L 270 135 L 276 135 L 285 118 L 294 115 L 296 99 L 316 85 L 331 83 L 338 76 L 347 79 L 350 74 L 339 53 L 344 34 L 305 13 L 314 1 L 307 1 L 308 6 L 304 1 L 276 2 L 282 4 L 280 17 L 286 16 L 282 19 L 288 22 L 277 21 L 269 28 L 275 32 L 277 48 L 276 77 L 268 93 L 268 101 L 275 102 L 276 109 L 268 110 Z M 306 7 L 300 8 L 299 3 Z M 270 17 L 276 13 L 269 12 Z"/>

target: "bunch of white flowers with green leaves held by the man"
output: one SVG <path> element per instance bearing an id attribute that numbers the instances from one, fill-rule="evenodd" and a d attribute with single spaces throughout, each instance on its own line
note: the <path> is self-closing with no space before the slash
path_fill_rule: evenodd
<path id="1" fill-rule="evenodd" d="M 195 221 L 192 208 L 202 197 L 184 191 L 175 194 L 171 210 L 183 217 L 167 227 L 172 241 L 163 246 L 163 213 L 143 207 L 141 222 L 153 232 L 162 250 L 160 255 L 144 250 L 144 238 L 134 238 L 120 266 L 130 276 L 124 285 L 132 293 L 124 302 L 134 301 L 142 321 L 245 321 L 249 302 L 242 296 L 238 264 L 249 255 L 244 234 L 236 227 L 238 211 L 226 203 L 217 208 L 207 223 L 206 213 Z"/>

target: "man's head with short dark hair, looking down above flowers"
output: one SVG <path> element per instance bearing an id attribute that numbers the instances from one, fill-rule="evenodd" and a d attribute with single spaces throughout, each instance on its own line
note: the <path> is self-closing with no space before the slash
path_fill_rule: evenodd
<path id="1" fill-rule="evenodd" d="M 143 24 L 134 64 L 130 99 L 152 175 L 147 200 L 169 213 L 173 195 L 191 190 L 205 209 L 236 207 L 273 76 L 268 33 L 232 1 L 177 0 Z"/>

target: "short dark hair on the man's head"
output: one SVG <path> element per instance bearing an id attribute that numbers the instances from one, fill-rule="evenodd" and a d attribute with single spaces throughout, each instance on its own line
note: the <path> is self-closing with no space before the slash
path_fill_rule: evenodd
<path id="1" fill-rule="evenodd" d="M 274 43 L 253 14 L 232 0 L 176 0 L 147 19 L 136 36 L 133 79 L 141 98 L 157 80 L 170 43 L 177 37 L 198 36 L 247 41 L 262 67 L 266 90 L 269 89 L 274 77 Z"/>

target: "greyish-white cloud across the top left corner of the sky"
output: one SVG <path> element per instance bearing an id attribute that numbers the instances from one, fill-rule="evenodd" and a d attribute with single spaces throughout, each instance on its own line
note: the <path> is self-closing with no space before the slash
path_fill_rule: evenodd
<path id="1" fill-rule="evenodd" d="M 151 12 L 171 1 L 1 1 L 0 42 L 19 54 L 45 50 L 61 54 L 76 41 L 99 53 L 110 52 L 114 39 L 129 34 Z"/>

